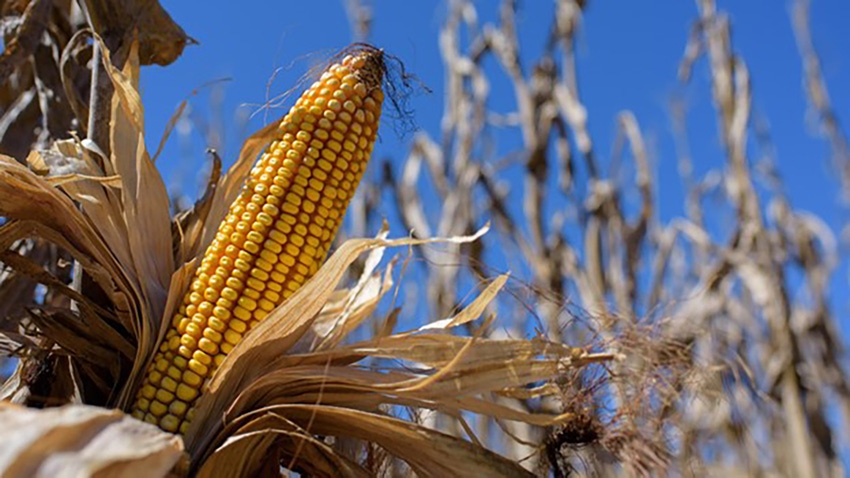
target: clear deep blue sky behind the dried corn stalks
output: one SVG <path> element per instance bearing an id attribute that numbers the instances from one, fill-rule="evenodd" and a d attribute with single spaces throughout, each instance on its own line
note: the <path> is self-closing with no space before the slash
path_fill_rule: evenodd
<path id="1" fill-rule="evenodd" d="M 536 57 L 551 24 L 552 3 L 520 2 L 518 28 L 523 51 Z M 653 0 L 591 1 L 578 37 L 578 71 L 582 101 L 598 157 L 610 157 L 615 119 L 622 110 L 637 116 L 654 163 L 659 214 L 662 221 L 682 213 L 682 185 L 677 173 L 671 134 L 669 103 L 685 98 L 690 110 L 690 150 L 697 173 L 722 166 L 722 151 L 711 104 L 705 62 L 695 69 L 690 85 L 677 82 L 676 71 L 691 24 L 697 16 L 694 2 Z M 840 117 L 850 116 L 850 4 L 842 0 L 814 0 L 812 31 L 824 73 L 831 87 L 833 106 Z M 220 125 L 225 137 L 220 147 L 225 164 L 232 162 L 242 139 L 284 112 L 255 114 L 247 126 L 244 118 L 256 113 L 267 95 L 290 89 L 312 65 L 350 43 L 352 35 L 342 0 L 255 1 L 234 8 L 232 2 L 210 0 L 199 9 L 195 2 L 164 1 L 166 9 L 200 44 L 188 47 L 166 68 L 143 71 L 142 89 L 147 111 L 148 143 L 155 148 L 166 122 L 181 100 L 193 90 L 193 117 Z M 400 57 L 431 94 L 416 94 L 410 106 L 415 121 L 432 137 L 439 134 L 443 99 L 443 64 L 438 32 L 446 0 L 372 2 L 374 22 L 369 41 Z M 479 1 L 479 20 L 494 20 L 499 2 Z M 802 90 L 802 70 L 789 17 L 789 3 L 781 0 L 720 1 L 720 10 L 732 20 L 733 45 L 743 55 L 753 79 L 754 114 L 766 118 L 776 145 L 776 161 L 792 204 L 817 213 L 838 230 L 846 213 L 837 206 L 838 183 L 830 168 L 828 145 L 806 121 L 807 104 Z M 528 66 L 526 62 L 525 66 Z M 495 62 L 489 65 L 498 71 Z M 270 78 L 274 76 L 274 81 Z M 504 78 L 501 73 L 493 78 Z M 210 82 L 214 86 L 206 86 Z M 512 111 L 513 95 L 506 81 L 495 79 L 491 107 Z M 286 108 L 294 101 L 285 103 Z M 217 105 L 211 107 L 211 105 Z M 243 120 L 240 120 L 242 118 Z M 173 135 L 158 162 L 173 190 L 194 192 L 204 176 L 204 150 L 210 144 L 199 130 L 186 140 Z M 410 135 L 392 130 L 381 135 L 375 155 L 401 159 Z M 516 134 L 498 134 L 499 148 L 510 151 Z M 752 142 L 752 140 L 751 140 Z M 371 168 L 369 174 L 376 174 Z M 382 214 L 391 216 L 387 207 Z M 396 231 L 400 233 L 401 231 Z M 847 264 L 833 278 L 833 302 L 844 330 L 850 307 Z"/>

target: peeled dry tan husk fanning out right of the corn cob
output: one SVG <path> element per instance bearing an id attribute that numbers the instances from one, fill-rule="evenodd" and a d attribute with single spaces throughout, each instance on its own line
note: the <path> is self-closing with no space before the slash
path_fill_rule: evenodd
<path id="1" fill-rule="evenodd" d="M 360 458 L 377 445 L 423 476 L 527 476 L 516 462 L 478 446 L 474 435 L 468 441 L 393 416 L 393 410 L 432 409 L 459 420 L 472 413 L 540 427 L 571 417 L 529 412 L 495 397 L 550 395 L 552 387 L 527 386 L 610 357 L 544 340 L 445 333 L 481 316 L 507 276 L 496 278 L 467 307 L 433 327 L 339 345 L 362 321 L 364 314 L 356 312 L 357 306 L 352 309 L 358 294 L 367 297 L 363 303 L 370 310 L 382 295 L 381 287 L 365 286 L 379 277 L 375 269 L 384 248 L 462 243 L 481 233 L 387 240 L 382 231 L 375 239 L 344 243 L 311 281 L 234 348 L 201 395 L 186 433 L 195 471 L 250 476 L 266 469 L 269 460 L 282 460 L 287 468 L 311 476 L 368 476 L 374 468 Z M 368 250 L 372 255 L 361 280 L 348 292 L 334 292 L 351 263 Z M 321 327 L 315 327 L 317 321 Z M 323 336 L 332 338 L 334 346 L 322 346 Z M 367 358 L 390 360 L 369 366 L 363 363 Z M 316 440 L 317 435 L 353 440 L 360 451 L 352 455 Z"/>

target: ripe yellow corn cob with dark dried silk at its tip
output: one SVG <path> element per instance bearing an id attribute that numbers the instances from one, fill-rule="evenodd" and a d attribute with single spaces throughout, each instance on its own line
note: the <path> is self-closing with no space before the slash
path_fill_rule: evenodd
<path id="1" fill-rule="evenodd" d="M 319 268 L 375 143 L 383 69 L 382 53 L 363 48 L 289 110 L 207 248 L 134 417 L 185 433 L 224 357 Z"/>

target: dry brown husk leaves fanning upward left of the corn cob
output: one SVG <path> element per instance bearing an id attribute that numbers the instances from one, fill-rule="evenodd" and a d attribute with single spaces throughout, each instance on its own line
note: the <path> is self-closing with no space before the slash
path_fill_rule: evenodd
<path id="1" fill-rule="evenodd" d="M 112 362 L 110 367 L 121 369 L 120 376 L 110 373 L 104 382 L 95 370 L 83 373 L 82 381 L 98 383 L 95 388 L 101 399 L 95 403 L 119 407 L 159 338 L 169 286 L 183 284 L 181 280 L 172 283 L 175 266 L 169 199 L 144 141 L 144 108 L 137 88 L 138 45 L 132 44 L 128 50 L 123 70 L 104 55 L 115 91 L 110 104 L 108 157 L 93 143 L 78 140 L 56 141 L 49 149 L 31 152 L 27 162 L 32 170 L 0 157 L 0 215 L 8 220 L 0 226 L 2 249 L 17 240 L 37 238 L 58 247 L 84 271 L 81 295 L 75 295 L 61 286 L 60 279 L 47 275 L 55 271 L 38 272 L 23 267 L 27 264 L 23 260 L 15 261 L 16 272 L 30 277 L 38 272 L 40 277 L 34 279 L 68 296 L 79 309 L 45 317 L 43 324 L 53 320 L 62 325 L 52 328 L 51 340 L 101 343 L 126 356 L 124 342 L 127 337 L 135 339 L 132 356 L 122 357 L 126 362 L 100 361 Z M 182 277 L 179 271 L 175 277 Z M 81 328 L 75 324 L 80 317 L 91 325 Z M 80 330 L 90 333 L 69 337 L 67 332 Z M 102 333 L 104 330 L 111 332 Z"/>

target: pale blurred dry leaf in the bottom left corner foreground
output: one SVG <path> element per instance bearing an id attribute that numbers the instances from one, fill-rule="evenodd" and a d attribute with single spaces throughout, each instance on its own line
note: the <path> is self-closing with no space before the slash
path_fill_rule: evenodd
<path id="1" fill-rule="evenodd" d="M 165 476 L 183 442 L 116 410 L 73 405 L 34 410 L 0 403 L 0 475 Z"/>

